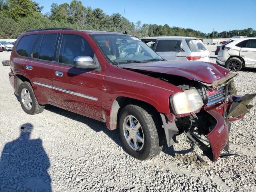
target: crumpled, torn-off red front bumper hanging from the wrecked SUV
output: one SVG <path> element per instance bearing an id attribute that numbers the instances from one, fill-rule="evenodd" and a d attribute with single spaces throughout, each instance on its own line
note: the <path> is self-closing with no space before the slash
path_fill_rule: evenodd
<path id="1" fill-rule="evenodd" d="M 249 112 L 248 109 L 252 107 L 249 103 L 255 96 L 256 94 L 233 95 L 225 103 L 203 108 L 194 118 L 186 116 L 175 120 L 174 115 L 165 114 L 164 117 L 161 114 L 168 146 L 176 142 L 177 134 L 184 132 L 210 160 L 216 161 L 222 150 L 225 147 L 227 150 L 229 146 L 230 122 L 243 118 Z M 208 143 L 199 135 L 206 136 Z"/>

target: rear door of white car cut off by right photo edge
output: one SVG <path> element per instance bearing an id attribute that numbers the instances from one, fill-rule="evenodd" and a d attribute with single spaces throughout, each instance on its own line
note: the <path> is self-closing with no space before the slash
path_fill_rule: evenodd
<path id="1" fill-rule="evenodd" d="M 248 40 L 240 50 L 240 56 L 244 58 L 248 67 L 256 65 L 256 39 Z"/>

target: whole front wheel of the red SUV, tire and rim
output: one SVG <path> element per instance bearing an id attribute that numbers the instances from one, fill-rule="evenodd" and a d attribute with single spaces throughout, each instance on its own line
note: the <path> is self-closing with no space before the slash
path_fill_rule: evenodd
<path id="1" fill-rule="evenodd" d="M 159 122 L 154 119 L 150 109 L 136 105 L 127 105 L 120 113 L 119 131 L 124 149 L 138 160 L 153 158 L 162 150 Z"/>

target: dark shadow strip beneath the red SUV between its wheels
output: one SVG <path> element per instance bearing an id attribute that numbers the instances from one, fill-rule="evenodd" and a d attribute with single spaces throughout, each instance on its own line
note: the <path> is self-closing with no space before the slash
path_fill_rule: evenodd
<path id="1" fill-rule="evenodd" d="M 121 138 L 119 137 L 119 132 L 117 129 L 110 131 L 106 127 L 106 124 L 104 124 L 103 122 L 100 122 L 98 120 L 94 120 L 92 118 L 88 118 L 86 116 L 82 116 L 82 115 L 67 111 L 62 108 L 58 108 L 58 107 L 55 107 L 52 105 L 46 105 L 45 109 L 50 112 L 54 112 L 56 114 L 70 118 L 74 121 L 79 121 L 83 124 L 86 124 L 95 132 L 103 131 L 104 134 L 106 134 L 109 138 L 111 138 L 114 142 L 116 142 L 116 144 L 118 144 L 118 146 L 123 148 L 122 141 L 121 141 Z"/>

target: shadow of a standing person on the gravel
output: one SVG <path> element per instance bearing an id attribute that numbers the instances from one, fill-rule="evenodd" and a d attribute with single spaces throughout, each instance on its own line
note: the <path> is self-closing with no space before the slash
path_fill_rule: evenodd
<path id="1" fill-rule="evenodd" d="M 20 136 L 7 143 L 0 159 L 0 191 L 51 192 L 49 158 L 41 139 L 30 139 L 32 124 L 20 127 Z"/>

